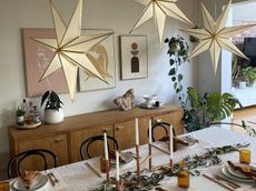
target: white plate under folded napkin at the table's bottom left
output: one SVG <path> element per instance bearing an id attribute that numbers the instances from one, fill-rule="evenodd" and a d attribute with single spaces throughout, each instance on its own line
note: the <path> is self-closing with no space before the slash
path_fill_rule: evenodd
<path id="1" fill-rule="evenodd" d="M 47 184 L 47 182 L 48 182 L 48 177 L 39 173 L 37 177 L 33 178 L 33 181 L 32 181 L 30 189 L 26 189 L 24 182 L 20 177 L 16 178 L 11 182 L 11 188 L 14 191 L 38 190 L 38 189 L 45 187 Z"/>

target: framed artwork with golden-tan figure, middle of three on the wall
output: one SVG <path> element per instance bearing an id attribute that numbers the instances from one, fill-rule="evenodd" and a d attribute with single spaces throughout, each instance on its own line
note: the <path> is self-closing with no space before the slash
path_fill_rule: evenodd
<path id="1" fill-rule="evenodd" d="M 100 34 L 112 32 L 108 29 L 82 30 L 82 34 Z M 79 90 L 91 91 L 116 87 L 116 62 L 115 62 L 115 36 L 110 36 L 100 43 L 92 47 L 87 57 L 97 67 L 98 71 L 105 77 L 108 83 L 99 80 L 83 69 L 79 69 Z"/>

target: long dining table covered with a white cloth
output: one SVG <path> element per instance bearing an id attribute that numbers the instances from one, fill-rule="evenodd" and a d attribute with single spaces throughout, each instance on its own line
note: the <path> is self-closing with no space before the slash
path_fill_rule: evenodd
<path id="1" fill-rule="evenodd" d="M 234 132 L 232 130 L 224 129 L 219 125 L 211 125 L 209 128 L 205 128 L 203 130 L 194 131 L 190 133 L 185 133 L 179 135 L 179 138 L 189 137 L 196 141 L 193 145 L 181 147 L 176 152 L 174 152 L 174 162 L 177 163 L 183 159 L 189 157 L 194 157 L 195 154 L 200 154 L 206 152 L 210 148 L 221 148 L 224 145 L 236 145 L 238 143 L 246 144 L 249 143 L 248 148 L 250 150 L 250 165 L 256 167 L 256 139 L 248 137 L 246 134 L 242 134 L 238 132 Z M 165 142 L 160 142 L 158 147 L 167 147 Z M 148 144 L 139 147 L 139 158 L 141 160 L 148 155 Z M 135 148 L 131 148 L 126 151 L 121 151 L 124 153 L 136 153 Z M 217 165 L 209 167 L 200 167 L 197 170 L 199 174 L 190 175 L 190 187 L 188 189 L 183 189 L 177 187 L 177 177 L 165 177 L 159 185 L 163 190 L 166 191 L 225 191 L 225 190 L 234 190 L 234 191 L 256 191 L 256 181 L 253 182 L 239 182 L 232 180 L 240 185 L 237 189 L 227 189 L 218 183 L 218 181 L 213 181 L 206 177 L 213 177 L 214 174 L 223 174 L 223 167 L 226 161 L 233 161 L 234 163 L 239 163 L 239 152 L 234 151 L 226 154 L 220 154 L 219 158 L 221 162 Z M 106 180 L 106 174 L 100 172 L 99 167 L 99 157 L 88 159 L 85 161 L 79 161 L 75 163 L 70 163 L 67 165 L 58 167 L 55 169 L 49 169 L 42 172 L 43 174 L 53 173 L 58 179 L 56 185 L 52 185 L 52 182 L 48 181 L 45 187 L 38 189 L 39 191 L 92 191 L 97 188 L 100 188 L 101 183 Z M 152 148 L 151 154 L 152 167 L 159 167 L 161 164 L 166 164 L 169 162 L 169 155 L 161 152 L 159 149 Z M 148 165 L 146 164 L 145 168 Z M 127 171 L 136 171 L 136 160 L 132 159 L 129 163 L 120 167 L 120 174 Z M 110 170 L 110 177 L 116 175 L 115 167 Z M 142 172 L 141 172 L 142 173 Z M 148 173 L 148 172 L 147 172 Z M 206 175 L 207 174 L 207 175 Z M 11 191 L 13 190 L 12 187 Z M 152 188 L 151 190 L 155 190 Z M 14 190 L 13 190 L 14 191 Z"/>

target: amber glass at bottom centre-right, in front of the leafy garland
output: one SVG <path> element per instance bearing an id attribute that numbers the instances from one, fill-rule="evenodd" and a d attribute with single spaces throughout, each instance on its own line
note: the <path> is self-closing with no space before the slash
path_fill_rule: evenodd
<path id="1" fill-rule="evenodd" d="M 179 163 L 179 171 L 177 174 L 178 187 L 188 189 L 189 188 L 189 172 L 185 169 L 185 162 Z"/>

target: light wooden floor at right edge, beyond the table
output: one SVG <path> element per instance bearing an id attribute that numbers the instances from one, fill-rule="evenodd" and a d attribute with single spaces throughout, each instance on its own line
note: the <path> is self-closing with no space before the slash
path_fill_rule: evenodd
<path id="1" fill-rule="evenodd" d="M 252 128 L 256 129 L 256 124 L 253 124 L 253 123 L 249 122 L 250 119 L 255 119 L 255 118 L 256 118 L 256 105 L 255 107 L 243 108 L 243 109 L 237 109 L 233 113 L 233 122 L 234 123 L 242 124 L 242 120 L 244 120 L 247 125 L 250 125 Z M 243 130 L 242 128 L 239 128 L 237 125 L 233 125 L 232 129 L 234 131 L 246 133 L 245 130 Z"/>

